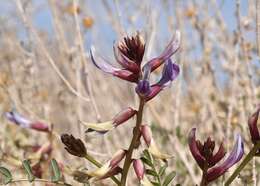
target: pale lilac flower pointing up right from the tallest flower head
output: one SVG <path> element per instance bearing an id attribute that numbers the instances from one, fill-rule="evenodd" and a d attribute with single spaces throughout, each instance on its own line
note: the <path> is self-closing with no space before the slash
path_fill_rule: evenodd
<path id="1" fill-rule="evenodd" d="M 170 43 L 166 46 L 164 51 L 158 57 L 148 61 L 146 65 L 151 66 L 151 71 L 154 71 L 159 66 L 161 66 L 166 60 L 168 60 L 180 47 L 181 33 L 179 31 L 175 32 L 174 37 Z"/>

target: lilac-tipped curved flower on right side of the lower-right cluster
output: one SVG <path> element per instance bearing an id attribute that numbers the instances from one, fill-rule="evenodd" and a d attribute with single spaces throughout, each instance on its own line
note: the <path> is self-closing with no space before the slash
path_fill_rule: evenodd
<path id="1" fill-rule="evenodd" d="M 238 134 L 236 144 L 228 158 L 220 165 L 213 167 L 207 172 L 207 181 L 211 182 L 223 175 L 230 167 L 236 164 L 244 155 L 244 144 L 242 137 Z"/>

